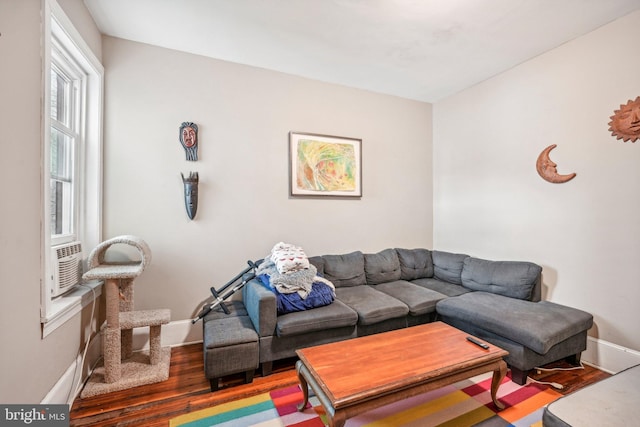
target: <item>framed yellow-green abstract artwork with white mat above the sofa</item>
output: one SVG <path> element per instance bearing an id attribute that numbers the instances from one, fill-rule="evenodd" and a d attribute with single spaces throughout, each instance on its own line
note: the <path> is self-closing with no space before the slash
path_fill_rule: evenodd
<path id="1" fill-rule="evenodd" d="M 291 196 L 362 197 L 362 140 L 289 132 Z"/>

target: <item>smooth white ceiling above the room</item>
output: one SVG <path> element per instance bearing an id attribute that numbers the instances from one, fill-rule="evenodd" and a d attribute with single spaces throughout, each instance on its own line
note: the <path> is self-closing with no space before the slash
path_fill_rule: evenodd
<path id="1" fill-rule="evenodd" d="M 640 0 L 85 0 L 103 34 L 435 102 Z"/>

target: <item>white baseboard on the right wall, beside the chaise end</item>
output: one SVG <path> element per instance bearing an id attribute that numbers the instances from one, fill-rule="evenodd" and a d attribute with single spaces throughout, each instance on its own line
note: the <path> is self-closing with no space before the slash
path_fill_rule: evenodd
<path id="1" fill-rule="evenodd" d="M 610 374 L 640 364 L 640 352 L 598 338 L 587 337 L 582 361 Z"/>

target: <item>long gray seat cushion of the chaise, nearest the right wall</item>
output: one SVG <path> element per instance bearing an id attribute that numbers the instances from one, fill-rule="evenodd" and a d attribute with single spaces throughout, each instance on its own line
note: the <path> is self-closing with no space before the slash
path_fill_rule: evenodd
<path id="1" fill-rule="evenodd" d="M 538 354 L 591 328 L 593 316 L 582 310 L 531 302 L 487 292 L 469 292 L 439 301 L 443 319 L 461 320 L 515 341 Z"/>

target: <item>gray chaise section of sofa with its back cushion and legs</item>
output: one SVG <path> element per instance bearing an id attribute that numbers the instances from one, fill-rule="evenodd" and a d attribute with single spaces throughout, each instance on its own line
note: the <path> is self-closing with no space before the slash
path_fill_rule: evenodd
<path id="1" fill-rule="evenodd" d="M 467 257 L 461 281 L 472 292 L 437 306 L 444 322 L 507 350 L 505 361 L 518 384 L 536 366 L 563 358 L 577 364 L 593 324 L 589 313 L 539 301 L 540 276 L 535 264 Z"/>

